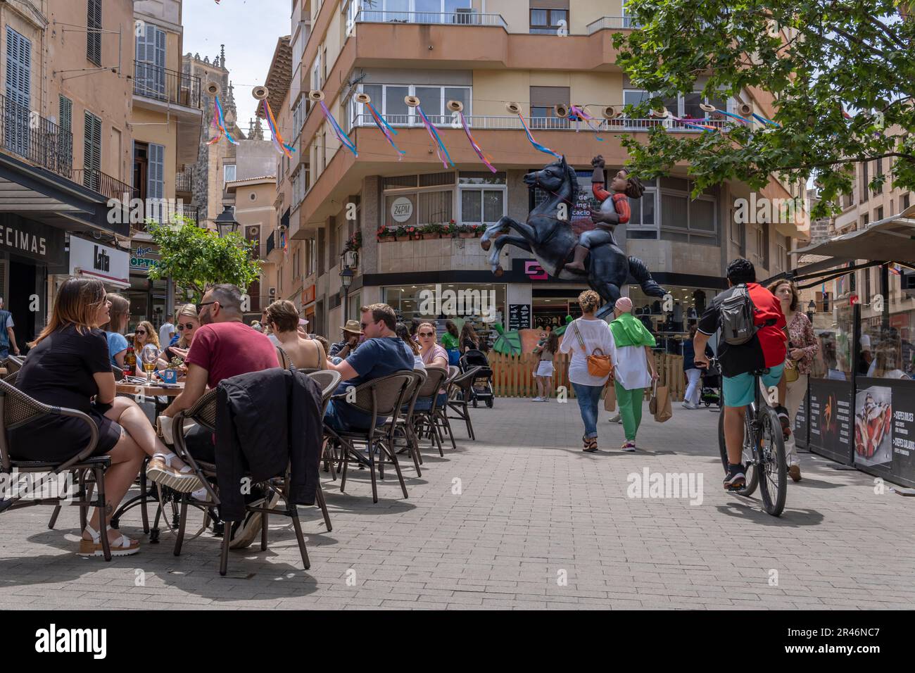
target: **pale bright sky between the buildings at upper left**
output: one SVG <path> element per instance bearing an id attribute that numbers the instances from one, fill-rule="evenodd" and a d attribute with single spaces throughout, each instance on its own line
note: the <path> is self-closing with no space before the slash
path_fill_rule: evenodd
<path id="1" fill-rule="evenodd" d="M 234 84 L 239 128 L 248 132 L 258 105 L 251 90 L 263 84 L 274 56 L 276 39 L 289 35 L 289 0 L 184 0 L 184 53 L 202 59 L 226 46 L 226 68 Z M 204 118 L 207 113 L 204 111 Z M 265 128 L 265 127 L 264 127 Z"/>

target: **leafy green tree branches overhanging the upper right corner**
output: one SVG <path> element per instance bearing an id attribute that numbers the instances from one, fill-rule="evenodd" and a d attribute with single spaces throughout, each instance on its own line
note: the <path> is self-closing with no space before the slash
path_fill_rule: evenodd
<path id="1" fill-rule="evenodd" d="M 614 35 L 618 64 L 651 101 L 702 91 L 709 99 L 747 90 L 773 99 L 778 126 L 728 119 L 727 130 L 674 136 L 662 127 L 623 136 L 640 176 L 685 162 L 695 193 L 725 180 L 759 190 L 777 175 L 810 178 L 820 190 L 813 217 L 839 209 L 852 190 L 851 164 L 889 159 L 886 180 L 915 190 L 915 20 L 903 0 L 629 0 L 641 27 Z M 847 112 L 847 116 L 845 114 Z M 660 125 L 659 125 L 660 126 Z"/>

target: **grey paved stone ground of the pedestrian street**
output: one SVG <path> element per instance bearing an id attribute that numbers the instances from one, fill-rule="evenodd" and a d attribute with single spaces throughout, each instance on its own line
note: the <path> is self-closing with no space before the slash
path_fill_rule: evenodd
<path id="1" fill-rule="evenodd" d="M 622 427 L 607 416 L 602 444 L 619 447 Z M 307 572 L 280 517 L 270 549 L 232 552 L 221 578 L 218 540 L 199 537 L 176 558 L 167 534 L 148 544 L 136 510 L 122 528 L 142 551 L 111 563 L 74 555 L 75 508 L 53 531 L 49 507 L 6 513 L 0 608 L 912 606 L 915 499 L 875 494 L 871 477 L 802 453 L 802 483 L 789 484 L 783 516 L 768 516 L 758 494 L 722 491 L 717 418 L 676 406 L 657 424 L 646 408 L 642 450 L 589 455 L 574 400 L 497 399 L 473 411 L 477 441 L 460 428 L 444 459 L 425 450 L 422 478 L 404 464 L 408 500 L 391 477 L 372 505 L 367 472 L 347 494 L 327 475 L 333 531 L 317 507 L 302 508 Z M 701 504 L 628 497 L 628 475 L 645 468 L 701 476 Z"/>

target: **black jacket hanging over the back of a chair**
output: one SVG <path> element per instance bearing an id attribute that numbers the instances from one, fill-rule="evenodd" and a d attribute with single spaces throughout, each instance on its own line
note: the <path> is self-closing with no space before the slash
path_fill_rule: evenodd
<path id="1" fill-rule="evenodd" d="M 223 379 L 217 388 L 216 481 L 224 521 L 244 516 L 244 477 L 283 476 L 289 500 L 314 505 L 323 418 L 321 389 L 295 369 L 264 369 Z"/>

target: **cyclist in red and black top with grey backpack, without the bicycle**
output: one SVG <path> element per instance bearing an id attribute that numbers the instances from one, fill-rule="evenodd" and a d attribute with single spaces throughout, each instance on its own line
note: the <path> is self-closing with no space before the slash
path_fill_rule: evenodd
<path id="1" fill-rule="evenodd" d="M 721 304 L 745 286 L 754 309 L 755 333 L 747 342 L 739 345 L 727 343 L 720 335 L 718 339 L 718 362 L 723 374 L 725 444 L 729 463 L 724 485 L 725 489 L 732 489 L 747 483 L 741 453 L 746 407 L 756 399 L 754 373 L 764 370 L 760 378 L 767 390 L 770 386 L 779 384 L 787 355 L 787 336 L 780 300 L 756 282 L 756 269 L 749 260 L 738 257 L 727 265 L 727 285 L 728 289 L 716 296 L 702 314 L 693 344 L 696 366 L 707 367 L 705 344 L 721 326 Z M 779 399 L 784 399 L 782 389 Z M 779 414 L 782 431 L 790 434 L 787 409 L 781 403 L 773 408 Z"/>

